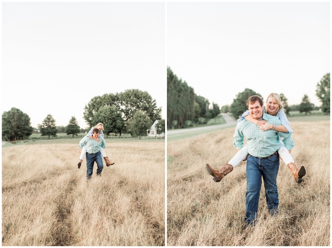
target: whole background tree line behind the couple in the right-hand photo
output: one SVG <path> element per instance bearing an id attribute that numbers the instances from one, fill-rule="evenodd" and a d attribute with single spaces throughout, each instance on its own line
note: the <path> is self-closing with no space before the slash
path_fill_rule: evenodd
<path id="1" fill-rule="evenodd" d="M 196 95 L 194 89 L 188 86 L 186 81 L 179 79 L 167 67 L 167 128 L 184 128 L 192 123 L 206 123 L 209 118 L 213 118 L 219 113 L 231 113 L 237 118 L 248 110 L 247 100 L 251 95 L 262 97 L 259 93 L 247 88 L 238 93 L 230 105 L 222 106 L 219 110 L 219 106 L 213 102 L 213 109 L 208 109 L 209 101 L 203 96 Z M 285 94 L 280 93 L 279 95 L 286 114 L 289 114 L 290 111 L 308 114 L 318 108 L 310 102 L 308 95 L 303 96 L 300 104 L 291 106 L 289 106 Z M 317 82 L 315 95 L 322 103 L 320 107 L 322 112 L 330 113 L 330 73 Z"/>

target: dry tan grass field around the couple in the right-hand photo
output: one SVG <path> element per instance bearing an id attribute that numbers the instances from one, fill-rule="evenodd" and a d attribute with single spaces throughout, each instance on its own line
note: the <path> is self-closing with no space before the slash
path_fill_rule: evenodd
<path id="1" fill-rule="evenodd" d="M 264 184 L 255 228 L 245 231 L 246 162 L 215 183 L 236 153 L 235 128 L 167 143 L 168 246 L 330 246 L 330 121 L 291 122 L 291 154 L 307 174 L 301 184 L 280 160 L 279 214 L 270 217 Z"/>

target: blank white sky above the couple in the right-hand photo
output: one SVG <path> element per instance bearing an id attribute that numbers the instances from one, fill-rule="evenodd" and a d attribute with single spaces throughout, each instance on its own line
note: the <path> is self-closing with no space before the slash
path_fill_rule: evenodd
<path id="1" fill-rule="evenodd" d="M 249 88 L 315 96 L 330 72 L 330 2 L 168 2 L 167 66 L 220 107 Z"/>

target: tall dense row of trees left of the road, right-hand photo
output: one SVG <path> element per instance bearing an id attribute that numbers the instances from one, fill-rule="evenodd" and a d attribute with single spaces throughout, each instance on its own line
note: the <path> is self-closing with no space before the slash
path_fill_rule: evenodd
<path id="1" fill-rule="evenodd" d="M 186 81 L 179 79 L 167 67 L 167 127 L 184 128 L 194 123 L 207 123 L 210 118 L 220 114 L 218 104 L 212 103 L 203 96 L 196 95 Z"/>

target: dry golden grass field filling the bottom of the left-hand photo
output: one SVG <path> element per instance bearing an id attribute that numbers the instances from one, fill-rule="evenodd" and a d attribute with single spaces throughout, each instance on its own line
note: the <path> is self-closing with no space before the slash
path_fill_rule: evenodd
<path id="1" fill-rule="evenodd" d="M 78 144 L 2 149 L 2 245 L 165 245 L 165 141 L 105 152 L 115 165 L 87 182 Z"/>

